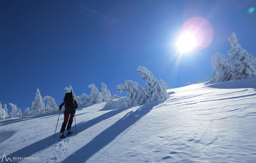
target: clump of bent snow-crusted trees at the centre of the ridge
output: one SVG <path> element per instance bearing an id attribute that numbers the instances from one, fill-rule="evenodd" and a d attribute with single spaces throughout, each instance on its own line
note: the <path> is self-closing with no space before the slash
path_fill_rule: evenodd
<path id="1" fill-rule="evenodd" d="M 143 105 L 146 102 L 158 102 L 170 97 L 166 90 L 170 89 L 164 80 L 158 81 L 147 68 L 139 66 L 136 71 L 141 73 L 145 80 L 146 89 L 137 82 L 125 80 L 123 84 L 116 86 L 118 92 L 127 91 L 127 96 L 118 100 L 110 100 L 105 107 L 126 108 Z"/>

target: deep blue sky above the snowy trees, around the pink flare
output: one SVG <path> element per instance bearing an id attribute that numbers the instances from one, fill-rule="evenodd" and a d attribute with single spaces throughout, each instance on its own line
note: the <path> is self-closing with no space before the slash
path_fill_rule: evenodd
<path id="1" fill-rule="evenodd" d="M 88 85 L 100 90 L 101 82 L 119 94 L 116 85 L 126 79 L 145 87 L 138 66 L 170 88 L 203 81 L 211 76 L 214 53 L 228 57 L 231 32 L 256 56 L 252 7 L 255 0 L 1 0 L 0 102 L 23 112 L 39 88 L 60 105 L 65 87 L 89 95 Z M 176 64 L 178 33 L 193 17 L 209 22 L 211 44 L 183 54 Z"/>

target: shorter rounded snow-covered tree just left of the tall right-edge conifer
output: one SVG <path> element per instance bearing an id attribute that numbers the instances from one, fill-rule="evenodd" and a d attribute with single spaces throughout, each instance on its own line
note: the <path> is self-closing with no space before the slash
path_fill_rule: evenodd
<path id="1" fill-rule="evenodd" d="M 213 54 L 211 57 L 211 66 L 213 67 L 211 79 L 216 76 L 216 82 L 224 82 L 231 79 L 230 63 L 224 55 L 220 53 Z"/>

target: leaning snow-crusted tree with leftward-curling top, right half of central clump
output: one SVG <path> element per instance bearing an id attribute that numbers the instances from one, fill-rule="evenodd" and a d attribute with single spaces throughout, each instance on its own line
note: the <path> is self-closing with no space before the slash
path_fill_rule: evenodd
<path id="1" fill-rule="evenodd" d="M 160 87 L 158 80 L 151 74 L 150 71 L 148 71 L 147 68 L 145 68 L 144 66 L 139 66 L 136 71 L 140 72 L 142 79 L 147 82 L 146 94 L 148 96 L 149 102 L 161 101 L 170 97 L 167 92 L 163 91 L 163 89 Z"/>

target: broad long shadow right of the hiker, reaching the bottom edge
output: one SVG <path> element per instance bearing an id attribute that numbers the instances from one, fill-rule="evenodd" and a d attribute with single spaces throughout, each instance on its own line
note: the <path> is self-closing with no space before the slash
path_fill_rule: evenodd
<path id="1" fill-rule="evenodd" d="M 74 160 L 76 162 L 85 162 L 96 152 L 105 147 L 108 143 L 112 142 L 120 133 L 125 131 L 131 125 L 135 124 L 144 115 L 148 114 L 153 108 L 152 105 L 142 106 L 136 111 L 127 113 L 123 118 L 108 127 L 106 130 L 97 135 L 91 142 L 84 147 L 75 151 L 75 155 L 68 156 L 62 163 L 70 163 Z"/>

